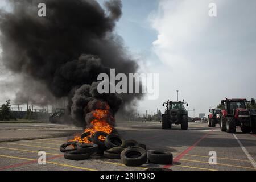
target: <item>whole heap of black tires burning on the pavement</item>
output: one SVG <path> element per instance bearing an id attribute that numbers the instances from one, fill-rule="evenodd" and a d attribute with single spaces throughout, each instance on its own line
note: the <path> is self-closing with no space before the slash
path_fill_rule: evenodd
<path id="1" fill-rule="evenodd" d="M 89 134 L 82 134 L 86 137 Z M 99 137 L 106 137 L 104 141 Z M 118 134 L 96 132 L 91 138 L 92 143 L 67 142 L 60 146 L 64 158 L 69 160 L 85 160 L 98 154 L 108 159 L 121 159 L 126 166 L 142 166 L 147 163 L 172 164 L 172 154 L 168 152 L 147 151 L 145 144 L 135 140 L 125 140 Z M 67 149 L 72 146 L 71 149 Z"/>

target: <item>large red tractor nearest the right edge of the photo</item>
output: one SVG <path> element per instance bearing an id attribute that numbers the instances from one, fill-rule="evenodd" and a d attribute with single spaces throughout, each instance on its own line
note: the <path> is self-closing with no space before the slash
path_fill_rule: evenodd
<path id="1" fill-rule="evenodd" d="M 245 98 L 232 98 L 221 101 L 225 109 L 220 114 L 220 129 L 227 133 L 236 133 L 236 127 L 240 126 L 243 133 L 256 134 L 256 114 L 246 109 Z"/>

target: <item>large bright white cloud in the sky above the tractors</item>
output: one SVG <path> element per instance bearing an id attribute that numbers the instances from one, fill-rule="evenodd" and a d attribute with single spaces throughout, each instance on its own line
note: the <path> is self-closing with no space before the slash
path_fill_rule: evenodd
<path id="1" fill-rule="evenodd" d="M 217 18 L 208 15 L 212 2 Z M 159 100 L 180 89 L 191 110 L 207 113 L 225 97 L 256 97 L 255 14 L 255 1 L 160 1 L 151 14 L 158 31 L 152 45 L 168 75 Z"/>

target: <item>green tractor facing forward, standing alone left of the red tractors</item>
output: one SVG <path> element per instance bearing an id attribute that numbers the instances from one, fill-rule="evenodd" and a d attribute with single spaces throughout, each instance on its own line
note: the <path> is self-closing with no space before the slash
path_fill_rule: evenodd
<path id="1" fill-rule="evenodd" d="M 162 129 L 168 130 L 172 128 L 172 124 L 181 125 L 181 130 L 188 129 L 188 111 L 185 109 L 185 104 L 181 101 L 167 101 L 163 103 L 166 106 L 166 111 L 162 114 Z"/>

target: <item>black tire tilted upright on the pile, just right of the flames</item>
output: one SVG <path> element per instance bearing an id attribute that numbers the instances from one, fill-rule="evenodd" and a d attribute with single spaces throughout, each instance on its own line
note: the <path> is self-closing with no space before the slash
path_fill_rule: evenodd
<path id="1" fill-rule="evenodd" d="M 123 147 L 125 148 L 125 139 L 117 134 L 109 134 L 105 139 L 106 148 L 110 149 L 113 147 Z"/>

